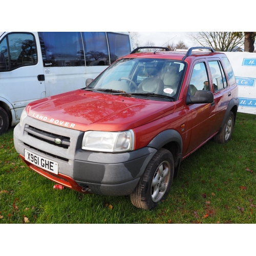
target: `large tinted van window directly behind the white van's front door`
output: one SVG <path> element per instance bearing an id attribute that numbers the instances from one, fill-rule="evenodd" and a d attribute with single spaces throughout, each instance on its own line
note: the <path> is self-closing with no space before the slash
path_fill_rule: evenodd
<path id="1" fill-rule="evenodd" d="M 44 67 L 84 66 L 80 32 L 38 32 Z"/>

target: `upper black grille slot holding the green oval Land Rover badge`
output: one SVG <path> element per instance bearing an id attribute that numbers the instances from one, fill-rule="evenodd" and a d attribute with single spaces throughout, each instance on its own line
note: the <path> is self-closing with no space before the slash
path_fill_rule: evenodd
<path id="1" fill-rule="evenodd" d="M 42 131 L 33 126 L 25 127 L 24 130 L 28 133 L 29 136 L 32 136 L 38 140 L 45 141 L 51 145 L 63 147 L 63 148 L 69 148 L 69 146 L 70 146 L 70 138 L 69 137 Z M 60 139 L 61 143 L 60 144 L 55 143 L 55 141 L 54 141 L 55 139 Z"/>

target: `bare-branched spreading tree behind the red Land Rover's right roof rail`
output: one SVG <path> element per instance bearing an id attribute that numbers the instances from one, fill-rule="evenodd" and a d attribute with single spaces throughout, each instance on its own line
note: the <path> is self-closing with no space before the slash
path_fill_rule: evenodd
<path id="1" fill-rule="evenodd" d="M 242 32 L 198 32 L 191 34 L 201 46 L 211 47 L 216 51 L 232 51 L 240 48 L 243 44 Z"/>

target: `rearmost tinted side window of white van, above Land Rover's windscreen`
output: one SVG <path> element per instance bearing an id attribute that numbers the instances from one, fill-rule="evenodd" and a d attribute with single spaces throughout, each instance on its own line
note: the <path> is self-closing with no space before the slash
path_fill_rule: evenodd
<path id="1" fill-rule="evenodd" d="M 113 32 L 106 32 L 106 34 L 108 35 L 109 40 L 111 63 L 131 52 L 129 35 Z"/>

